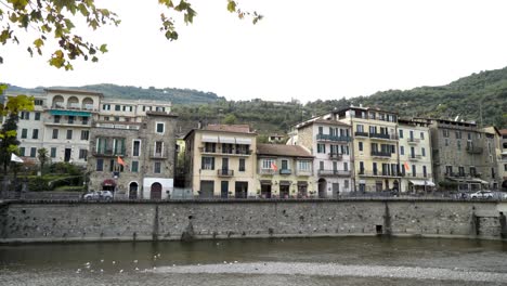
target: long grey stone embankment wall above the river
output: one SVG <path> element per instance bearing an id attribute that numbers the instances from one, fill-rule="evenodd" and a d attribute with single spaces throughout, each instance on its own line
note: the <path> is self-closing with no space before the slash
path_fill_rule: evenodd
<path id="1" fill-rule="evenodd" d="M 427 199 L 11 202 L 0 205 L 0 242 L 377 234 L 500 239 L 499 211 L 506 209 L 506 203 Z"/>

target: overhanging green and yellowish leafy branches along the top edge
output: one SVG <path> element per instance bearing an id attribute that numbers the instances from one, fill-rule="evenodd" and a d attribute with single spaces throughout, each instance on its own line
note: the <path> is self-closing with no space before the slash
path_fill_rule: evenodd
<path id="1" fill-rule="evenodd" d="M 98 53 L 107 52 L 107 44 L 93 43 L 81 36 L 74 34 L 75 22 L 84 21 L 93 30 L 105 25 L 119 25 L 118 15 L 108 9 L 95 6 L 94 0 L 0 0 L 0 42 L 5 44 L 14 42 L 20 44 L 20 29 L 35 29 L 37 36 L 27 46 L 30 55 L 34 52 L 42 55 L 42 48 L 52 42 L 51 37 L 57 41 L 60 49 L 56 49 L 49 64 L 56 68 L 73 69 L 72 61 L 76 58 L 91 60 L 98 62 Z M 185 0 L 158 0 L 169 12 L 183 14 L 183 22 L 191 24 L 197 15 L 192 4 Z M 141 2 L 140 2 L 141 4 Z M 251 17 L 253 24 L 262 18 L 257 12 L 242 11 L 236 1 L 227 0 L 227 11 L 236 13 L 239 18 Z M 178 32 L 176 22 L 172 17 L 160 14 L 160 30 L 169 40 L 177 40 Z M 0 55 L 0 64 L 3 57 Z"/>

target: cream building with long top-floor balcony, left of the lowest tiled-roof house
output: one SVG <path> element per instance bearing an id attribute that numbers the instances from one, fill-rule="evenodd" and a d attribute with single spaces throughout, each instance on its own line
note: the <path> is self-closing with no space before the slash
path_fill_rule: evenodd
<path id="1" fill-rule="evenodd" d="M 185 187 L 202 198 L 256 196 L 256 132 L 248 125 L 208 125 L 185 140 Z"/>

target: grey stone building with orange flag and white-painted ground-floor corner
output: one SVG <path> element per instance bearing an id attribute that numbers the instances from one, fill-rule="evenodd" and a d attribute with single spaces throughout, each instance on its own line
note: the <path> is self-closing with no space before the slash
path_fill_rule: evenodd
<path id="1" fill-rule="evenodd" d="M 115 198 L 165 199 L 173 188 L 176 115 L 146 112 L 129 121 L 93 125 L 88 160 L 89 190 Z"/>

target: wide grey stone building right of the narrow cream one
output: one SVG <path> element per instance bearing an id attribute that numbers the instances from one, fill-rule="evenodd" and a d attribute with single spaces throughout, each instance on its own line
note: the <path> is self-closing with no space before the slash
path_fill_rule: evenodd
<path id="1" fill-rule="evenodd" d="M 428 119 L 438 184 L 455 183 L 460 191 L 498 187 L 494 135 L 473 122 Z"/>

